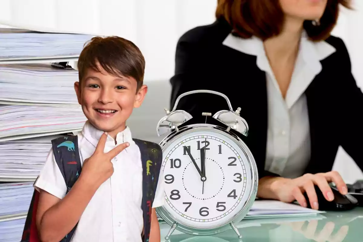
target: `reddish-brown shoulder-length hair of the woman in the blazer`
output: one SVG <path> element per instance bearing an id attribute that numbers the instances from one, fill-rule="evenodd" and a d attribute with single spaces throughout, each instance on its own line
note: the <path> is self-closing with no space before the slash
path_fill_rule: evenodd
<path id="1" fill-rule="evenodd" d="M 338 20 L 339 5 L 351 9 L 351 0 L 328 0 L 319 25 L 306 20 L 303 24 L 313 41 L 330 36 Z M 242 38 L 257 36 L 262 40 L 280 34 L 284 13 L 279 0 L 218 0 L 217 19 L 225 19 L 233 28 L 233 34 Z"/>

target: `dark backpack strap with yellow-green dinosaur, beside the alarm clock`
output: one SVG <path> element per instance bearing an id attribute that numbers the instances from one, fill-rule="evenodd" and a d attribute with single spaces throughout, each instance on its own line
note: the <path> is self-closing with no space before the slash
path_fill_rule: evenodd
<path id="1" fill-rule="evenodd" d="M 142 161 L 142 205 L 144 218 L 144 237 L 143 241 L 148 242 L 151 227 L 151 211 L 154 202 L 156 188 L 159 180 L 160 168 L 163 160 L 163 152 L 160 145 L 133 139 L 138 145 Z"/>

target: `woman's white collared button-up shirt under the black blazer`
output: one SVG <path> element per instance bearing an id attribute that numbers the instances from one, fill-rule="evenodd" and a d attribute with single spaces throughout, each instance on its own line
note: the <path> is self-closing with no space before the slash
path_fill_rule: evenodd
<path id="1" fill-rule="evenodd" d="M 294 72 L 284 99 L 261 39 L 243 39 L 229 34 L 223 44 L 257 56 L 257 66 L 266 72 L 268 133 L 265 170 L 283 177 L 301 176 L 309 163 L 311 152 L 305 90 L 322 70 L 320 61 L 334 53 L 335 48 L 325 41 L 310 41 L 303 32 Z"/>

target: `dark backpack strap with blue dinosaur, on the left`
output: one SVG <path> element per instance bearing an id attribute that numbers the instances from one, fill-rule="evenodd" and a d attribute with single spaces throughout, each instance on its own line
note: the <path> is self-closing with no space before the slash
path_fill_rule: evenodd
<path id="1" fill-rule="evenodd" d="M 67 186 L 67 192 L 70 191 L 74 183 L 81 174 L 82 165 L 78 151 L 77 135 L 60 137 L 52 140 L 54 157 L 57 165 L 64 177 Z M 77 223 L 78 224 L 78 223 Z M 76 226 L 61 240 L 69 242 L 72 239 Z"/>

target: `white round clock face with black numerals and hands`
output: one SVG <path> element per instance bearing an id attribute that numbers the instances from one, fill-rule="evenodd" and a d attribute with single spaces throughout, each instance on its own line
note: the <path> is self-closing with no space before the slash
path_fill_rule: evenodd
<path id="1" fill-rule="evenodd" d="M 183 225 L 213 229 L 231 222 L 249 200 L 248 156 L 230 136 L 208 129 L 163 149 L 164 209 Z"/>

